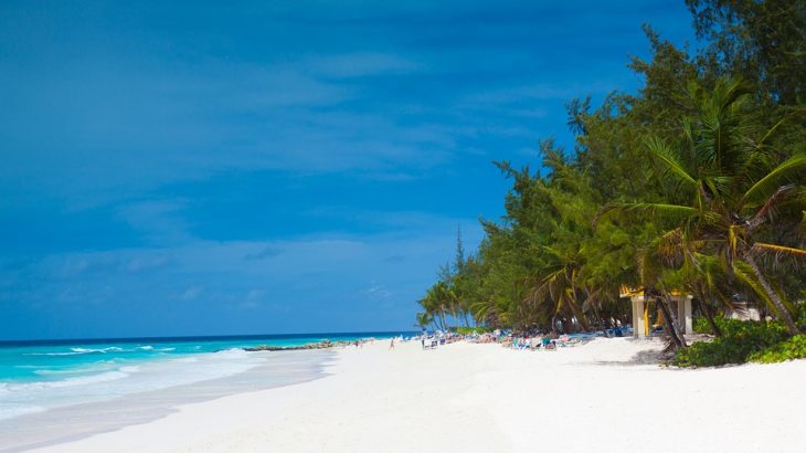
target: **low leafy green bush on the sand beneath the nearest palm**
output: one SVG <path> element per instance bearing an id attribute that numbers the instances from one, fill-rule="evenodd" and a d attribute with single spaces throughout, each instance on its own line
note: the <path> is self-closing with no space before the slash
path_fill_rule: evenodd
<path id="1" fill-rule="evenodd" d="M 723 336 L 679 349 L 672 364 L 678 367 L 715 367 L 745 364 L 753 354 L 762 352 L 788 338 L 782 323 L 738 319 L 714 319 Z"/>

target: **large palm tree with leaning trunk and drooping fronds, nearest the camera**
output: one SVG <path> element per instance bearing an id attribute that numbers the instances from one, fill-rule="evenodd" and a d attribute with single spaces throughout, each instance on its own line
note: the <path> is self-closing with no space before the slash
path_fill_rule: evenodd
<path id="1" fill-rule="evenodd" d="M 681 251 L 718 256 L 724 270 L 754 291 L 784 320 L 799 330 L 760 260 L 777 264 L 804 257 L 806 250 L 767 242 L 793 206 L 803 206 L 806 155 L 780 159 L 771 143 L 783 122 L 762 129 L 746 108 L 750 92 L 739 81 L 720 80 L 712 93 L 690 86 L 694 115 L 683 118 L 680 139 L 669 144 L 649 137 L 646 148 L 660 169 L 667 193 L 661 203 L 633 203 L 632 210 L 675 219 Z M 799 209 L 798 209 L 799 211 Z"/>

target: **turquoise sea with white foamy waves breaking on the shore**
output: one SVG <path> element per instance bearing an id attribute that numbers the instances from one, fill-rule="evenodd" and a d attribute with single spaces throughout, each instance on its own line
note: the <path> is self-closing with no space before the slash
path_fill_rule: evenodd
<path id="1" fill-rule="evenodd" d="M 266 362 L 266 352 L 246 352 L 244 347 L 399 335 L 411 334 L 4 341 L 0 343 L 0 420 L 226 378 Z"/>

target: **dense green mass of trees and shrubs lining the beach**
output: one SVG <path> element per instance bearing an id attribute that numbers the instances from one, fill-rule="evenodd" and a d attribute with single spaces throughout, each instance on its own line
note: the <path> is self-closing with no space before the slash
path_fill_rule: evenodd
<path id="1" fill-rule="evenodd" d="M 806 3 L 686 2 L 706 40 L 696 55 L 646 27 L 651 57 L 629 64 L 645 81 L 637 94 L 598 108 L 572 99 L 574 149 L 543 140 L 539 171 L 496 164 L 512 181 L 506 214 L 481 221 L 476 254 L 457 238 L 420 325 L 629 323 L 629 286 L 687 292 L 709 314 L 740 294 L 789 335 L 806 331 L 795 322 L 806 278 L 792 272 L 806 259 Z M 778 327 L 719 323 L 724 338 L 678 360 L 741 362 L 777 338 Z"/>

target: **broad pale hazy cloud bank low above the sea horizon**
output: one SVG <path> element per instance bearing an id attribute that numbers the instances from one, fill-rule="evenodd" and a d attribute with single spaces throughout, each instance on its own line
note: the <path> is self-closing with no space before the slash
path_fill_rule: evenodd
<path id="1" fill-rule="evenodd" d="M 479 234 L 478 228 L 465 231 L 468 242 Z M 410 227 L 406 234 L 194 240 L 174 246 L 65 253 L 9 270 L 8 274 L 15 274 L 15 283 L 0 292 L 0 303 L 32 310 L 41 319 L 60 316 L 65 309 L 71 316 L 92 312 L 97 316 L 87 317 L 86 326 L 99 333 L 148 313 L 181 318 L 189 326 L 237 319 L 241 333 L 327 330 L 346 313 L 360 313 L 351 323 L 358 323 L 354 328 L 370 329 L 373 319 L 400 322 L 414 316 L 414 301 L 434 275 L 431 263 L 449 259 L 454 239 L 453 228 L 420 225 Z M 279 253 L 283 260 L 245 259 L 265 251 Z M 152 267 L 146 268 L 144 263 L 152 263 Z M 372 310 L 362 308 L 373 301 L 379 305 Z M 199 306 L 189 310 L 185 303 Z M 255 315 L 237 315 L 238 309 Z M 284 315 L 275 318 L 274 313 Z M 96 324 L 102 320 L 105 324 Z M 18 331 L 13 326 L 3 328 L 7 335 Z M 155 328 L 141 334 L 171 331 Z"/>

